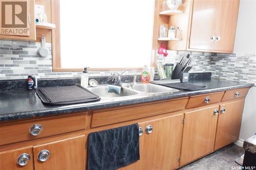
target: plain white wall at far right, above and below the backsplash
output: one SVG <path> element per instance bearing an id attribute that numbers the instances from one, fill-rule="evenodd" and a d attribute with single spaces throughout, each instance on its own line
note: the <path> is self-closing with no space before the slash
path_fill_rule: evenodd
<path id="1" fill-rule="evenodd" d="M 256 54 L 256 1 L 240 0 L 234 53 Z M 252 87 L 245 99 L 240 141 L 256 133 L 256 86 Z M 242 142 L 237 142 L 242 145 Z"/>

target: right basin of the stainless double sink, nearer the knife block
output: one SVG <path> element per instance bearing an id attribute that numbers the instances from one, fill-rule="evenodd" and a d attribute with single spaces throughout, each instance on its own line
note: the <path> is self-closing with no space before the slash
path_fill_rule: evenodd
<path id="1" fill-rule="evenodd" d="M 137 90 L 137 91 L 147 92 L 147 93 L 179 91 L 177 89 L 164 87 L 164 86 L 161 86 L 161 85 L 156 85 L 156 84 L 151 84 L 151 83 L 148 83 L 148 84 L 134 84 L 133 89 Z"/>

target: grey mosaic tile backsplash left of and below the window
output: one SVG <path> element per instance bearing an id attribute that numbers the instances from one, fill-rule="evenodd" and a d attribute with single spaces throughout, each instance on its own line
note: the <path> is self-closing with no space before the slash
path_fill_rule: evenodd
<path id="1" fill-rule="evenodd" d="M 51 43 L 46 46 L 51 52 Z M 38 79 L 80 77 L 82 72 L 52 72 L 52 55 L 46 58 L 37 55 L 40 42 L 0 40 L 0 80 L 27 79 L 29 74 Z M 120 70 L 122 71 L 122 70 Z M 89 71 L 91 77 L 110 76 L 111 72 Z M 127 71 L 124 75 L 140 74 L 140 70 Z"/>

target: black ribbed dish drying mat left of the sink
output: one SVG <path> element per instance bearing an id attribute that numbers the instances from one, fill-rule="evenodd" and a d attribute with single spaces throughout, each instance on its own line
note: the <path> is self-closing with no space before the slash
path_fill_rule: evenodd
<path id="1" fill-rule="evenodd" d="M 64 105 L 100 100 L 99 96 L 81 86 L 44 87 L 36 89 L 42 103 Z"/>

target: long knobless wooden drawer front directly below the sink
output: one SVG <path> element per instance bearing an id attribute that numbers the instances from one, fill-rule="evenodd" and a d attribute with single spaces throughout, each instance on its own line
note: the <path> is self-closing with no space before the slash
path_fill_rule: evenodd
<path id="1" fill-rule="evenodd" d="M 111 125 L 138 118 L 185 109 L 188 98 L 93 111 L 91 127 Z"/>

